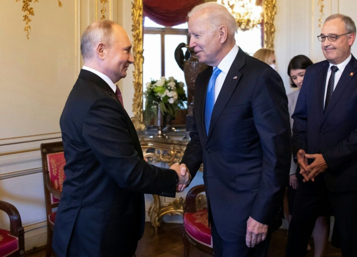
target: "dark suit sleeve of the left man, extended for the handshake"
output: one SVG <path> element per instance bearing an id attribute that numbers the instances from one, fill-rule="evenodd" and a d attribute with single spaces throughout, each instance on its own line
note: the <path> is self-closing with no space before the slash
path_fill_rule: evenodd
<path id="1" fill-rule="evenodd" d="M 121 188 L 174 197 L 176 172 L 149 165 L 139 157 L 127 122 L 114 99 L 98 98 L 83 120 L 82 137 Z"/>

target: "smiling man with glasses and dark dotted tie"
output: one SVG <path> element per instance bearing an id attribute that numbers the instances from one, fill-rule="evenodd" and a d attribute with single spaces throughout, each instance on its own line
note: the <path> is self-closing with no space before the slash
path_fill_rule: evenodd
<path id="1" fill-rule="evenodd" d="M 354 21 L 327 17 L 318 36 L 326 60 L 306 70 L 292 115 L 300 167 L 287 256 L 305 256 L 314 223 L 331 208 L 343 257 L 357 256 L 357 60 Z"/>

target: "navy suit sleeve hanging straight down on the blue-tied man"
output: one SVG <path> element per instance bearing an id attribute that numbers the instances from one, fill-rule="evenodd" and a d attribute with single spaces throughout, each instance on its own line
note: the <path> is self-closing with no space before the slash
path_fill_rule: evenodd
<path id="1" fill-rule="evenodd" d="M 252 111 L 263 150 L 262 178 L 250 216 L 272 223 L 281 207 L 291 163 L 288 99 L 279 75 L 265 69 L 255 85 Z"/>

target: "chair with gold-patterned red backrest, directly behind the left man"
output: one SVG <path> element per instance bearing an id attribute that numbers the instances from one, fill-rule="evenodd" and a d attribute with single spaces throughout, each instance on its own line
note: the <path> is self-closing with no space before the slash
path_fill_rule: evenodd
<path id="1" fill-rule="evenodd" d="M 52 234 L 56 218 L 56 209 L 60 202 L 62 185 L 65 180 L 65 155 L 62 142 L 41 144 L 42 171 L 47 214 L 47 249 L 46 257 L 52 253 Z"/>

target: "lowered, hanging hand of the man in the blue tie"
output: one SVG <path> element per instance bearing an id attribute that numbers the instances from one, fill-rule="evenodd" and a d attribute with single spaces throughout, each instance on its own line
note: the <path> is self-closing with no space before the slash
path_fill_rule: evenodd
<path id="1" fill-rule="evenodd" d="M 247 220 L 247 233 L 245 234 L 245 243 L 248 247 L 254 247 L 261 241 L 264 241 L 268 233 L 266 224 L 257 222 L 249 216 Z"/>

